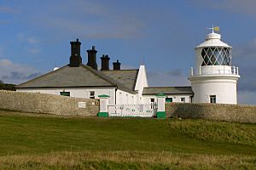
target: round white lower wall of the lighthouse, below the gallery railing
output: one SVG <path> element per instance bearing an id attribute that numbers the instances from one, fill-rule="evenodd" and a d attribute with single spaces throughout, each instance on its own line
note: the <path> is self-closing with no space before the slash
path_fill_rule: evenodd
<path id="1" fill-rule="evenodd" d="M 210 103 L 210 95 L 216 95 L 218 104 L 237 104 L 238 77 L 194 77 L 189 80 L 195 93 L 193 103 Z"/>

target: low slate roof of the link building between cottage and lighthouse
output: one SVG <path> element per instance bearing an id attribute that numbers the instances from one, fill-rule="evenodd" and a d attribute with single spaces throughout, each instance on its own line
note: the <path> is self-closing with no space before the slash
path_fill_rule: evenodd
<path id="1" fill-rule="evenodd" d="M 194 94 L 191 87 L 152 87 L 144 88 L 143 95 L 155 94 Z"/>

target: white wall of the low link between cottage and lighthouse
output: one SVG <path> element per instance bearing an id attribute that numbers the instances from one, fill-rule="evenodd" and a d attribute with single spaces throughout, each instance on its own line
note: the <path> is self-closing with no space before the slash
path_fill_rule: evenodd
<path id="1" fill-rule="evenodd" d="M 176 95 L 171 95 L 171 94 L 166 94 L 166 98 L 172 98 L 172 102 L 182 102 L 181 99 L 185 98 L 185 103 L 191 103 L 191 96 L 189 94 L 176 94 Z M 144 104 L 149 104 L 151 103 L 151 99 L 154 99 L 154 102 L 157 101 L 157 98 L 155 95 L 143 95 L 143 103 Z"/>

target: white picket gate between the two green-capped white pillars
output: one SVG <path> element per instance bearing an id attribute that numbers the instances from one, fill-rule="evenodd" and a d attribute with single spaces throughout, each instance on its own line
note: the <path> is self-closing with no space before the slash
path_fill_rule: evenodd
<path id="1" fill-rule="evenodd" d="M 152 117 L 156 115 L 156 111 L 156 103 L 137 105 L 108 105 L 108 116 Z"/>

